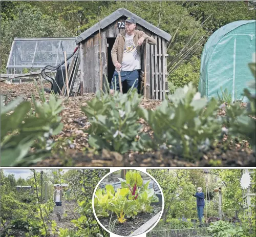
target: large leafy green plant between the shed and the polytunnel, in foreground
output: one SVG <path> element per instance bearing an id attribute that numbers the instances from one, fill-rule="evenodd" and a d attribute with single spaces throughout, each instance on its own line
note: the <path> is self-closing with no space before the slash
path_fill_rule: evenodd
<path id="1" fill-rule="evenodd" d="M 151 145 L 155 149 L 163 147 L 195 159 L 221 136 L 217 110 L 214 98 L 207 102 L 189 83 L 169 95 L 169 102 L 164 100 L 155 111 L 141 108 L 141 116 L 154 132 Z"/>

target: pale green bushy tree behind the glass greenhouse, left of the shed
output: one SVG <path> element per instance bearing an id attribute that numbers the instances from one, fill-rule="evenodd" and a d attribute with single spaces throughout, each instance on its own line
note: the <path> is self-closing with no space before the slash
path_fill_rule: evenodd
<path id="1" fill-rule="evenodd" d="M 26 4 L 19 4 L 16 15 L 1 20 L 2 59 L 1 73 L 6 73 L 6 63 L 15 37 L 71 37 L 72 31 L 65 28 L 62 22 L 52 16 L 44 15 L 36 8 L 28 8 Z M 4 14 L 4 13 L 3 13 Z"/>

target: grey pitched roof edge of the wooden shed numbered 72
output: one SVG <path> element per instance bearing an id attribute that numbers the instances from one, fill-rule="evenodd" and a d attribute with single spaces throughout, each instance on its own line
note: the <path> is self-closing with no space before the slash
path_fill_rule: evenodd
<path id="1" fill-rule="evenodd" d="M 100 20 L 99 23 L 96 23 L 94 26 L 92 26 L 91 28 L 87 29 L 86 31 L 84 31 L 83 33 L 78 35 L 75 38 L 76 44 L 79 44 L 79 42 L 88 38 L 89 36 L 94 34 L 96 31 L 98 31 L 99 30 L 99 24 L 100 24 L 100 29 L 104 29 L 105 27 L 112 24 L 115 20 L 120 18 L 121 16 L 134 17 L 137 21 L 137 24 L 139 24 L 140 26 L 152 31 L 153 33 L 159 35 L 160 37 L 166 39 L 167 41 L 169 41 L 172 38 L 172 36 L 170 34 L 168 34 L 167 32 L 165 32 L 165 31 L 159 29 L 158 27 L 148 23 L 146 20 L 144 20 L 141 17 L 135 15 L 134 13 L 128 11 L 127 9 L 119 8 L 116 11 L 114 11 L 112 14 L 110 14 L 110 15 L 106 16 L 104 19 Z"/>

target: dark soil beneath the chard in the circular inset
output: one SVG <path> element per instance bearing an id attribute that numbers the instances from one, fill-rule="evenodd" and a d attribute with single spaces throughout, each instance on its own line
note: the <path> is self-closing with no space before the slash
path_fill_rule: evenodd
<path id="1" fill-rule="evenodd" d="M 113 230 L 113 233 L 121 236 L 129 236 L 136 229 L 138 229 L 140 226 L 145 224 L 148 220 L 153 218 L 162 209 L 161 206 L 153 206 L 153 208 L 154 208 L 153 213 L 140 213 L 136 216 L 135 219 L 133 218 L 127 219 L 122 224 L 117 221 L 115 225 L 115 229 Z M 117 218 L 116 214 L 113 214 L 111 221 L 115 220 L 116 218 Z M 105 228 L 109 229 L 110 217 L 100 218 L 99 221 Z"/>

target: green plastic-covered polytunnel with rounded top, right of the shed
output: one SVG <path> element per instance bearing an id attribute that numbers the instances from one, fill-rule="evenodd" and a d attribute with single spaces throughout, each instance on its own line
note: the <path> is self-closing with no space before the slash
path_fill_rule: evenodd
<path id="1" fill-rule="evenodd" d="M 255 20 L 234 21 L 214 32 L 201 54 L 201 95 L 218 99 L 221 89 L 226 89 L 232 101 L 246 102 L 242 93 L 247 82 L 254 80 L 248 63 L 253 61 L 255 44 Z"/>

